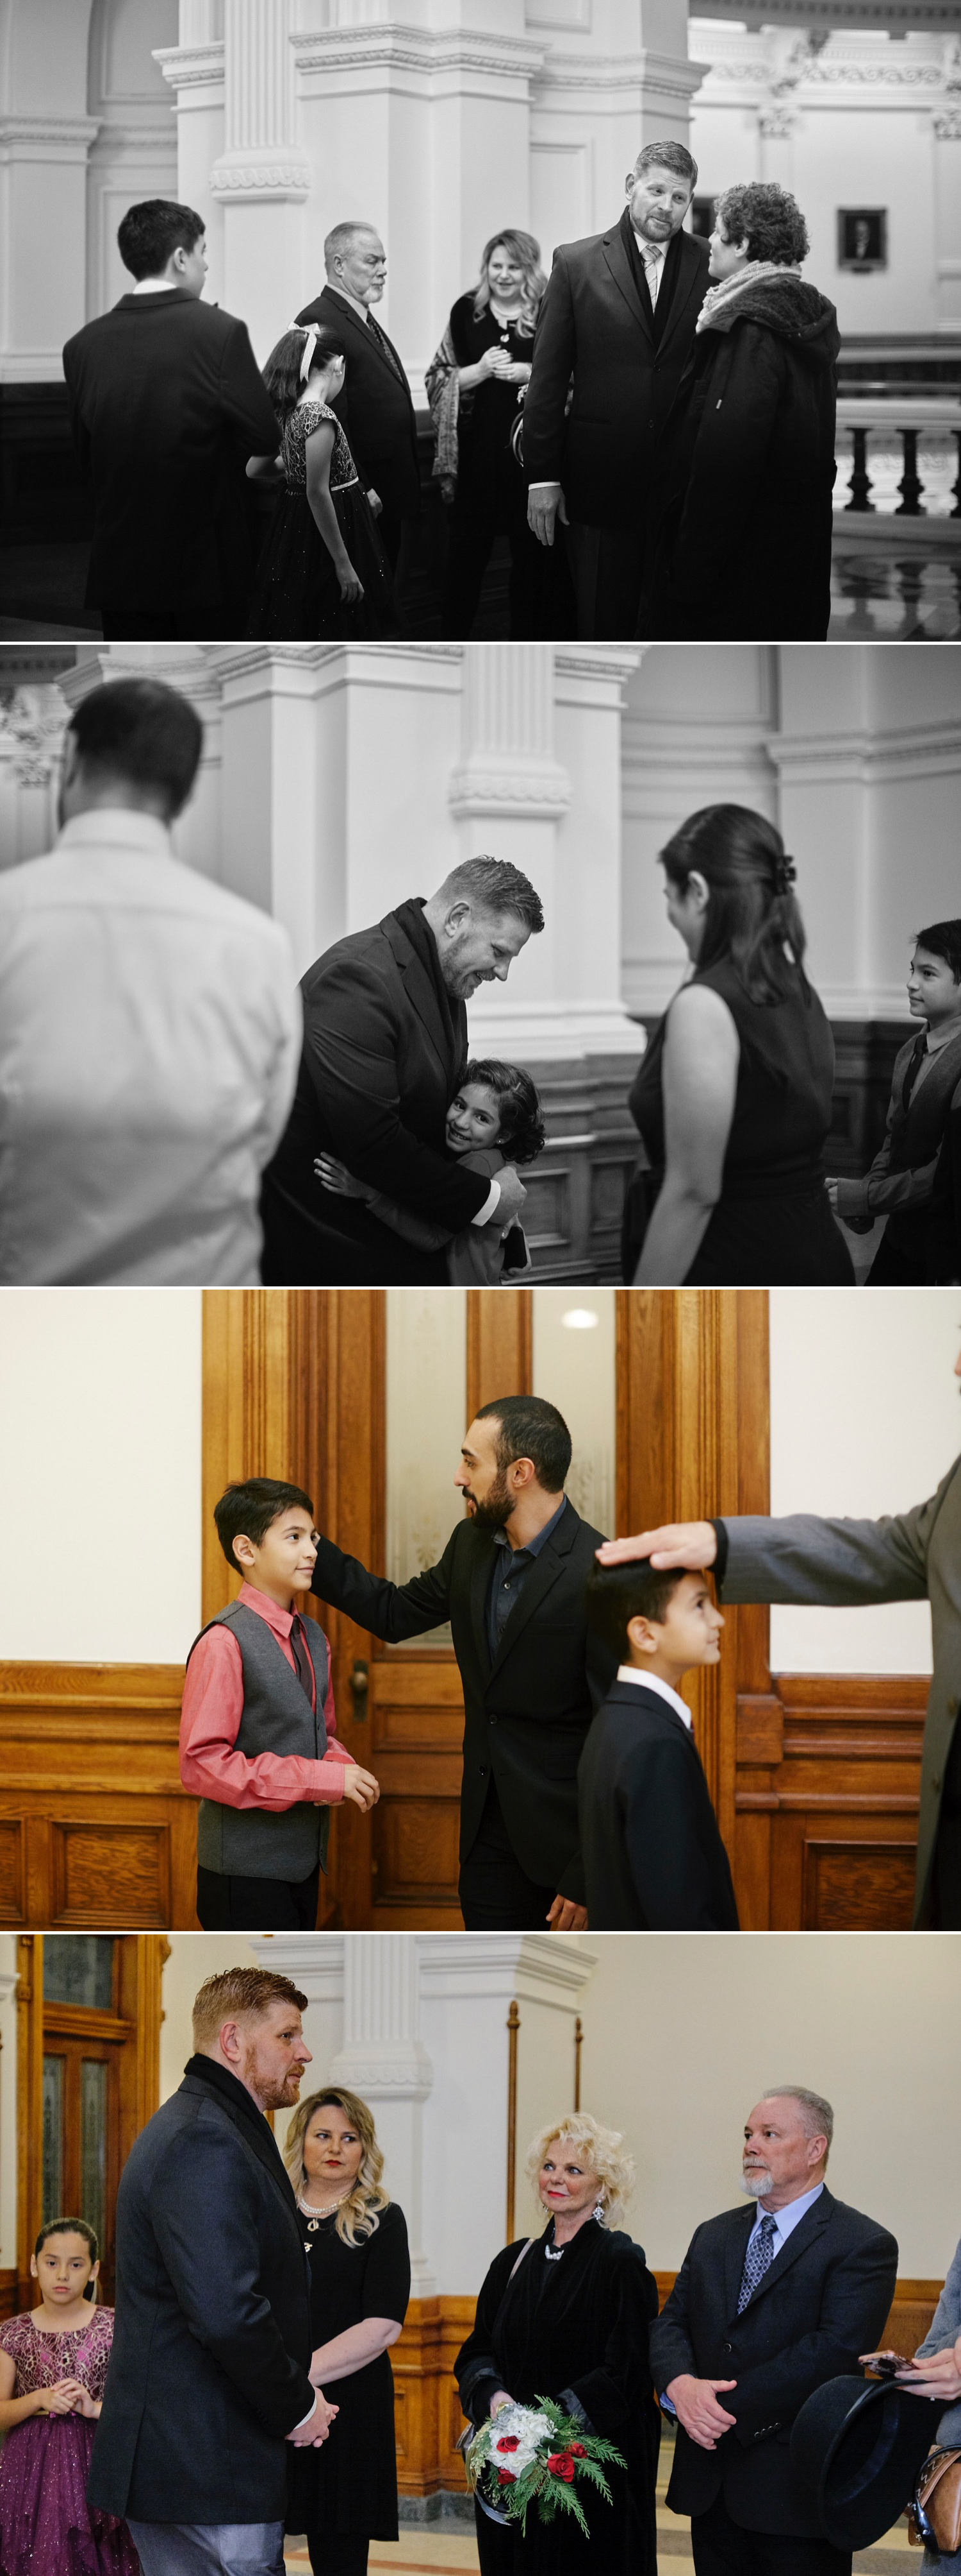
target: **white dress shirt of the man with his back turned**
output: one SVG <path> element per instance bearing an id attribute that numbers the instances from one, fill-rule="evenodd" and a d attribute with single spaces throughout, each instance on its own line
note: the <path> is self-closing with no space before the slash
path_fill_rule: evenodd
<path id="1" fill-rule="evenodd" d="M 285 930 L 152 814 L 0 873 L 0 1283 L 254 1285 L 298 1054 Z"/>

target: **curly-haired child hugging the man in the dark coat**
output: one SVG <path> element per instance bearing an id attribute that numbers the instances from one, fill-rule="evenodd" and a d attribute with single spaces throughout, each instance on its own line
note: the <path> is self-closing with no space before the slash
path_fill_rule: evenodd
<path id="1" fill-rule="evenodd" d="M 537 1162 L 545 1149 L 545 1121 L 537 1090 L 522 1064 L 496 1064 L 493 1059 L 468 1064 L 447 1110 L 445 1146 L 463 1162 L 465 1172 L 478 1172 L 486 1180 L 501 1180 L 504 1172 L 516 1180 L 516 1164 Z M 355 1180 L 347 1164 L 334 1162 L 334 1154 L 319 1154 L 313 1172 L 324 1190 L 334 1190 L 339 1198 L 362 1198 L 370 1213 L 401 1234 L 406 1244 L 419 1244 L 421 1252 L 442 1252 L 447 1244 L 447 1283 L 452 1288 L 498 1288 L 532 1267 L 516 1216 L 501 1234 L 493 1218 L 488 1226 L 463 1226 L 460 1234 L 450 1234 L 445 1224 L 414 1216 L 396 1198 Z M 522 1206 L 524 1198 L 527 1190 L 522 1190 Z"/>

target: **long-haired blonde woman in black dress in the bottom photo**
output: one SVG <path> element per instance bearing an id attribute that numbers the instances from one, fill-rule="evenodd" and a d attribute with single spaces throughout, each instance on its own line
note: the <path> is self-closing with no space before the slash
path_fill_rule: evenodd
<path id="1" fill-rule="evenodd" d="M 362 2576 L 370 2540 L 398 2537 L 388 2344 L 411 2295 L 406 2223 L 380 2184 L 373 2115 L 339 2084 L 301 2102 L 283 2161 L 311 2264 L 311 2378 L 337 2380 L 339 2406 L 324 2450 L 293 2452 L 288 2532 L 306 2532 L 313 2576 Z"/>

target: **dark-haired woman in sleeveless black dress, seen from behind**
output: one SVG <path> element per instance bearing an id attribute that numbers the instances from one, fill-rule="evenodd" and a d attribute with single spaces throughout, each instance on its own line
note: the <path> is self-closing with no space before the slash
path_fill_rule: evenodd
<path id="1" fill-rule="evenodd" d="M 804 974 L 794 860 L 763 814 L 704 806 L 660 866 L 694 974 L 630 1095 L 645 1154 L 627 1195 L 624 1278 L 851 1288 L 822 1159 L 835 1043 Z"/>

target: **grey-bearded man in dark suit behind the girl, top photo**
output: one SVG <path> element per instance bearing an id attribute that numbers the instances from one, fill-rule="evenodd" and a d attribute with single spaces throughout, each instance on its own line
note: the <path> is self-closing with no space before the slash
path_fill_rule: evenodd
<path id="1" fill-rule="evenodd" d="M 331 410 L 378 515 L 391 572 L 406 518 L 421 510 L 416 415 L 403 361 L 370 307 L 380 304 L 388 258 L 373 224 L 334 224 L 324 242 L 326 286 L 298 322 L 334 322 L 344 340 L 347 376 Z"/>

